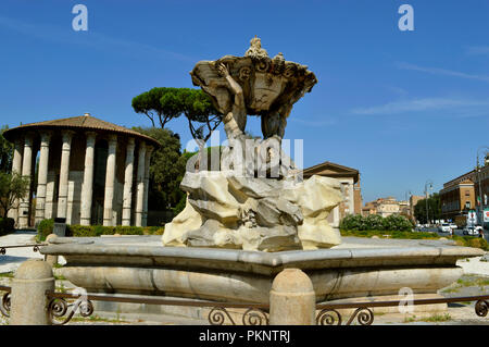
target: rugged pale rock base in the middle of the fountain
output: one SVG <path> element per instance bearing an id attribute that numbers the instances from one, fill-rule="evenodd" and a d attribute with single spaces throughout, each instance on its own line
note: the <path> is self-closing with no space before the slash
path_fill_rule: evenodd
<path id="1" fill-rule="evenodd" d="M 181 186 L 187 207 L 166 224 L 164 246 L 279 251 L 341 243 L 326 221 L 342 199 L 334 178 L 294 183 L 218 171 L 187 173 Z"/>

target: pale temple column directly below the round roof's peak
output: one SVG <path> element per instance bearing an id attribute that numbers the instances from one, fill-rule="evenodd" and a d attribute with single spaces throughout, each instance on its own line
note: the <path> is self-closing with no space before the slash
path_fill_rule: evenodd
<path id="1" fill-rule="evenodd" d="M 93 198 L 93 158 L 97 134 L 88 132 L 86 137 L 87 147 L 85 149 L 85 170 L 84 183 L 82 186 L 82 211 L 79 221 L 82 225 L 90 225 L 91 222 L 91 200 Z"/>

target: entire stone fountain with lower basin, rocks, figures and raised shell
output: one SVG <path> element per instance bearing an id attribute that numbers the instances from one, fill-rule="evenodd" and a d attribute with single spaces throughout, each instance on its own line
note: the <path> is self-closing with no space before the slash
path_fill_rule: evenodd
<path id="1" fill-rule="evenodd" d="M 281 150 L 293 103 L 317 83 L 308 66 L 271 59 L 259 38 L 244 57 L 201 61 L 190 73 L 224 115 L 229 146 L 221 171 L 189 168 L 187 206 L 160 236 L 54 237 L 41 252 L 63 256 L 58 269 L 89 293 L 163 295 L 267 303 L 274 277 L 301 269 L 316 302 L 381 299 L 409 287 L 421 298 L 463 271 L 459 259 L 480 249 L 450 240 L 341 238 L 326 221 L 343 195 L 338 181 L 302 179 Z M 246 133 L 248 115 L 262 139 Z"/>

